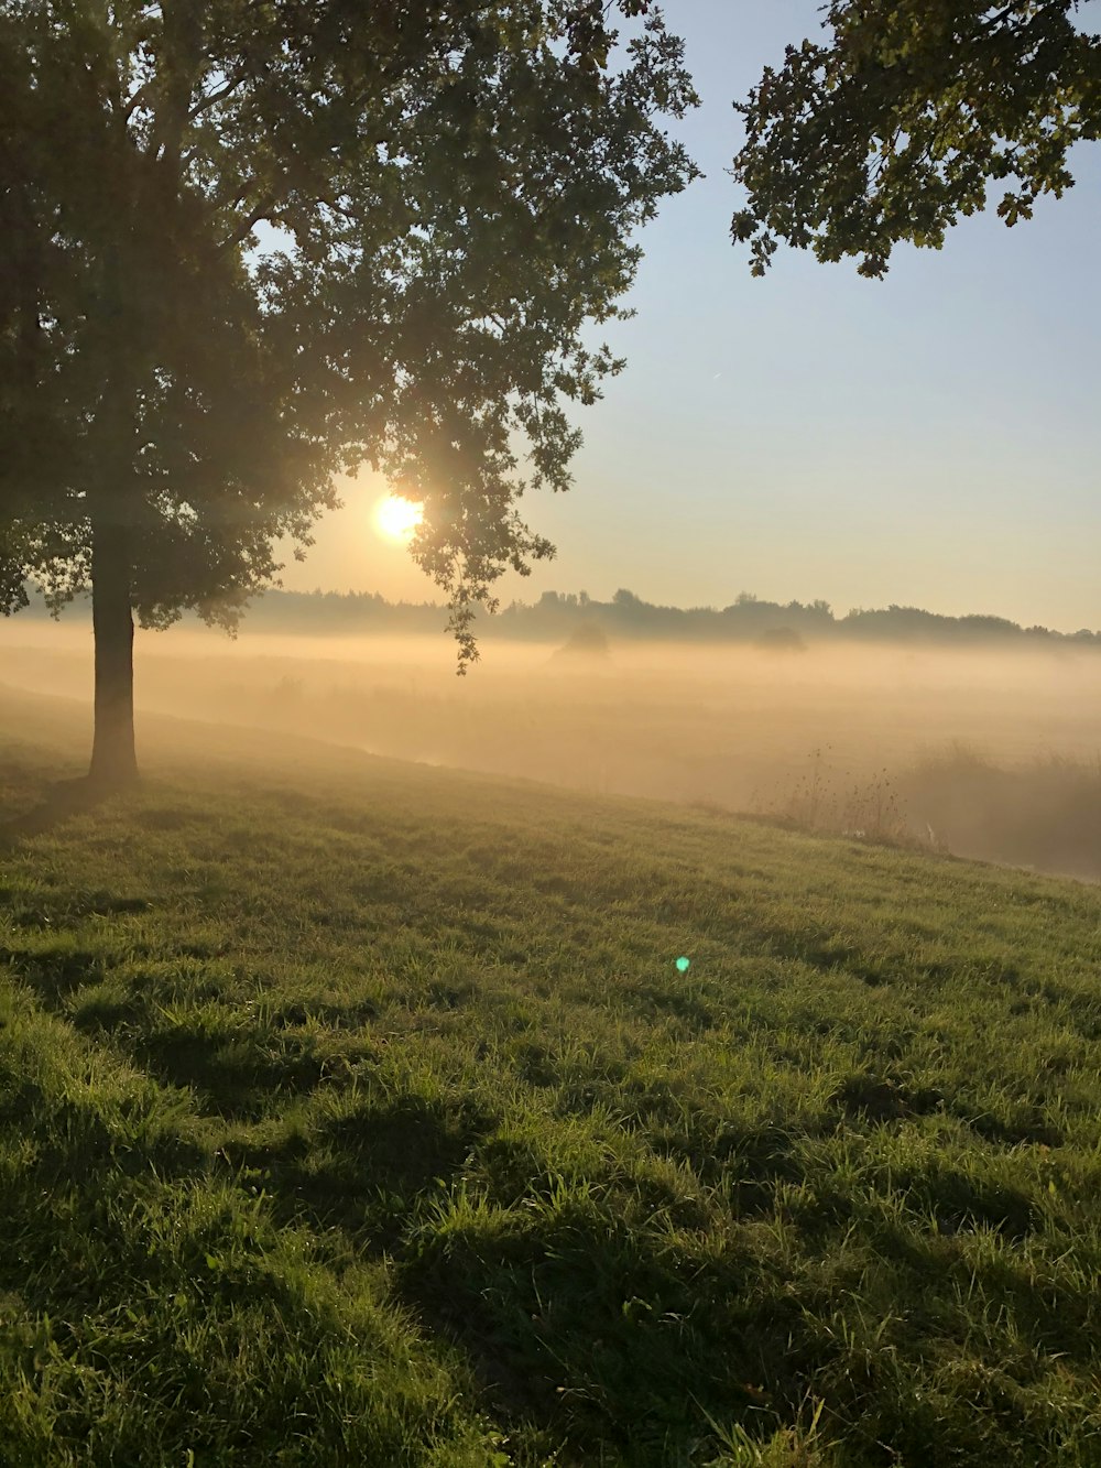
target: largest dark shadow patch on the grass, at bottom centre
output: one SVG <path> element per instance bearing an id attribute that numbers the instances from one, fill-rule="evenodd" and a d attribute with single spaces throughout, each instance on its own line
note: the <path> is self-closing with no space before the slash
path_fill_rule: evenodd
<path id="1" fill-rule="evenodd" d="M 530 1221 L 426 1232 L 398 1284 L 511 1424 L 581 1452 L 600 1443 L 614 1462 L 687 1462 L 708 1417 L 768 1436 L 804 1387 L 793 1298 L 750 1298 L 744 1257 L 684 1268 L 662 1239 L 583 1198 Z M 775 1415 L 755 1383 L 769 1384 Z"/>

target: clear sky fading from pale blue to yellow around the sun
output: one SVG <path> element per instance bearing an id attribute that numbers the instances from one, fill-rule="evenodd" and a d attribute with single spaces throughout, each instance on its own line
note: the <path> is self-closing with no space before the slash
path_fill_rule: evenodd
<path id="1" fill-rule="evenodd" d="M 730 242 L 733 101 L 818 7 L 666 0 L 703 103 L 672 131 L 706 178 L 640 235 L 637 314 L 602 333 L 627 370 L 577 413 L 574 489 L 521 506 L 558 556 L 502 599 L 752 592 L 1101 628 L 1101 147 L 1079 145 L 1078 186 L 1033 220 L 991 210 L 940 252 L 898 247 L 884 282 L 784 247 L 753 279 Z M 385 484 L 341 490 L 283 584 L 439 599 L 373 530 Z"/>

